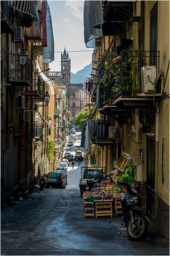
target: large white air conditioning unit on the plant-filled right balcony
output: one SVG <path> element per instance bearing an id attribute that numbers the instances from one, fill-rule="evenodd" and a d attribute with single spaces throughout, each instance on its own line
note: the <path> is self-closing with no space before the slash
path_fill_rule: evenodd
<path id="1" fill-rule="evenodd" d="M 153 93 L 156 78 L 156 66 L 144 66 L 141 69 L 141 92 Z"/>

